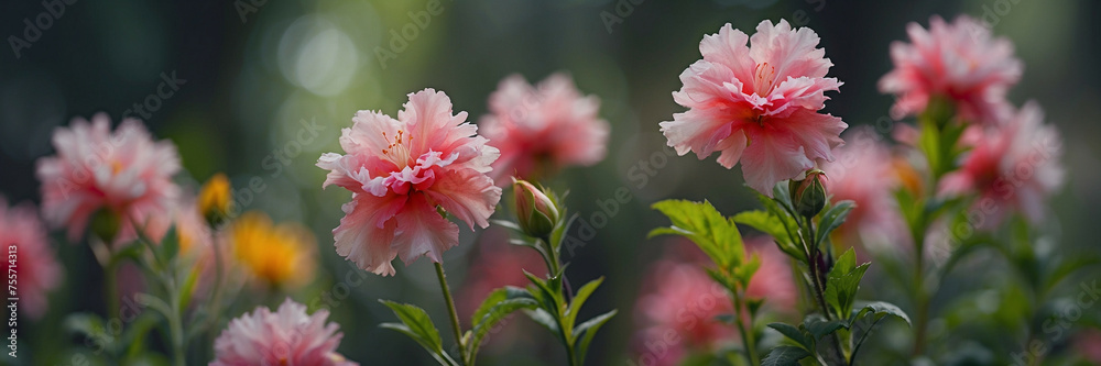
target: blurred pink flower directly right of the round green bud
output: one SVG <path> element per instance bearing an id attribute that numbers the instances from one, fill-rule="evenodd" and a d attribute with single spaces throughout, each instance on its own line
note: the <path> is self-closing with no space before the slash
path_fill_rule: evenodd
<path id="1" fill-rule="evenodd" d="M 896 130 L 897 131 L 897 130 Z M 852 200 L 857 207 L 836 232 L 844 244 L 897 244 L 908 240 L 894 192 L 903 182 L 891 147 L 871 126 L 846 133 L 837 160 L 822 166 L 829 176 L 826 191 L 832 201 Z"/>

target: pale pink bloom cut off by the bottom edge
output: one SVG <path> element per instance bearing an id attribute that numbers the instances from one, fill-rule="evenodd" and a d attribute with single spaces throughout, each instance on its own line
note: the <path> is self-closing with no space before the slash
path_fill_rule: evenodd
<path id="1" fill-rule="evenodd" d="M 327 310 L 306 314 L 306 306 L 286 299 L 272 313 L 257 308 L 233 319 L 214 342 L 211 366 L 356 366 L 336 352 L 340 325 L 326 323 Z"/>

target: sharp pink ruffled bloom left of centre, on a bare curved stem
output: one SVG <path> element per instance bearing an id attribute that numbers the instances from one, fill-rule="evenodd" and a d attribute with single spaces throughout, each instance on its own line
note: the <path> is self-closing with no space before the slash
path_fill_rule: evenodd
<path id="1" fill-rule="evenodd" d="M 453 115 L 451 100 L 433 89 L 411 93 L 396 120 L 356 113 L 340 136 L 347 155 L 327 153 L 317 160 L 330 170 L 323 187 L 352 191 L 333 230 L 338 254 L 366 270 L 393 275 L 396 256 L 406 265 L 422 255 L 439 263 L 458 244 L 459 228 L 437 208 L 471 229 L 489 225 L 501 188 L 486 174 L 499 153 L 466 119 L 467 112 Z"/>

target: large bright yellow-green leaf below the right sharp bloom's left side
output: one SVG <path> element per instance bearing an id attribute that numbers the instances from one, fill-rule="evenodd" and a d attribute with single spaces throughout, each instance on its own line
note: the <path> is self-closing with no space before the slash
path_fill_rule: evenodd
<path id="1" fill-rule="evenodd" d="M 668 217 L 673 225 L 651 231 L 650 237 L 664 234 L 688 237 L 715 264 L 726 269 L 744 260 L 745 247 L 738 226 L 719 213 L 710 202 L 664 200 L 652 207 Z"/>

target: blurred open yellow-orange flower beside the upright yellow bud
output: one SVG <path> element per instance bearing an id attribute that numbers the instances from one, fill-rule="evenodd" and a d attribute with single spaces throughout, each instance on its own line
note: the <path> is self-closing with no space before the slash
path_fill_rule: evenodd
<path id="1" fill-rule="evenodd" d="M 238 263 L 273 287 L 295 287 L 314 277 L 314 236 L 297 223 L 275 225 L 250 211 L 233 222 L 230 235 Z"/>

